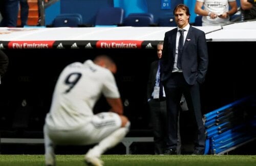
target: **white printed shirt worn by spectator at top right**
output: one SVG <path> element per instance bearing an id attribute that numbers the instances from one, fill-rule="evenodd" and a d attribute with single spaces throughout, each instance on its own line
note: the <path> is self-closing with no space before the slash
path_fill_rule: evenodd
<path id="1" fill-rule="evenodd" d="M 234 2 L 236 0 L 197 0 L 198 2 L 202 2 L 203 8 L 206 11 L 216 13 L 217 15 L 228 12 L 229 10 L 229 2 Z M 209 16 L 202 17 L 202 25 L 203 26 L 219 26 L 229 23 L 229 16 L 225 19 L 216 17 L 215 19 L 211 19 Z"/>

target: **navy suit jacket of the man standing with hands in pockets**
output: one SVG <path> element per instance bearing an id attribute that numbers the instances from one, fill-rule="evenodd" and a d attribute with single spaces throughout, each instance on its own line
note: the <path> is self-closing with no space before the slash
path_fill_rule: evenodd
<path id="1" fill-rule="evenodd" d="M 165 33 L 161 58 L 161 81 L 172 75 L 175 60 L 176 36 L 178 28 Z M 193 85 L 203 83 L 208 67 L 208 51 L 205 33 L 190 26 L 182 51 L 182 70 L 186 82 Z"/>

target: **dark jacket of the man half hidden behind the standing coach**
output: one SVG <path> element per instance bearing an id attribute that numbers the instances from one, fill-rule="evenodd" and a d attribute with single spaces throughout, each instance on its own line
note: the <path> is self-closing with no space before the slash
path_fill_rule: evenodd
<path id="1" fill-rule="evenodd" d="M 158 69 L 158 62 L 159 60 L 152 62 L 150 66 L 150 75 L 148 77 L 148 82 L 147 82 L 147 99 L 151 98 L 152 92 L 154 91 L 154 87 L 156 83 L 156 74 Z"/>

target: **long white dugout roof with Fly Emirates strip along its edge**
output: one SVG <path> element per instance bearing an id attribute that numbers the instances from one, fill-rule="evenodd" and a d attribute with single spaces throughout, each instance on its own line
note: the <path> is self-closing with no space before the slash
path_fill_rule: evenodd
<path id="1" fill-rule="evenodd" d="M 0 28 L 0 49 L 151 49 L 173 28 Z M 255 20 L 197 28 L 207 41 L 256 41 Z"/>

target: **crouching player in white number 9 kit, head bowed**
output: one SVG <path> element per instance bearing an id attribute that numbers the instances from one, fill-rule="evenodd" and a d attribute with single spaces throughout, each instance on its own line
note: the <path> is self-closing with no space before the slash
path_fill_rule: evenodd
<path id="1" fill-rule="evenodd" d="M 105 55 L 71 63 L 62 70 L 44 125 L 46 165 L 56 164 L 56 145 L 96 143 L 84 159 L 89 165 L 103 165 L 100 155 L 120 143 L 129 131 L 130 122 L 122 115 L 123 105 L 113 76 L 116 70 L 116 64 Z M 111 109 L 94 114 L 93 107 L 101 94 Z"/>

